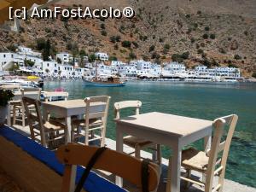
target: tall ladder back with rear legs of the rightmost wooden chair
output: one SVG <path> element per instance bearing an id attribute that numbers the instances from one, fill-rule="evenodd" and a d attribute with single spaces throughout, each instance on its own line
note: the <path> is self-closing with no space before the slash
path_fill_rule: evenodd
<path id="1" fill-rule="evenodd" d="M 224 179 L 225 166 L 228 159 L 230 150 L 230 143 L 236 128 L 238 116 L 236 114 L 230 114 L 213 121 L 214 136 L 212 139 L 211 150 L 207 151 L 209 156 L 209 162 L 207 166 L 207 186 L 212 189 L 212 180 L 215 174 L 222 172 L 222 179 Z M 224 127 L 228 126 L 228 134 L 224 141 Z M 218 154 L 223 153 L 221 158 L 218 159 Z M 219 166 L 218 166 L 219 165 Z M 218 168 L 217 168 L 218 167 Z"/>

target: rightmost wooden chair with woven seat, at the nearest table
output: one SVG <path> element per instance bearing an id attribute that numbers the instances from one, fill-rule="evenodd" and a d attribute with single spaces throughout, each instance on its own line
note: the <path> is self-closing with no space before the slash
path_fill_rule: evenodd
<path id="1" fill-rule="evenodd" d="M 195 183 L 202 186 L 206 192 L 223 191 L 225 168 L 237 119 L 236 114 L 231 114 L 213 121 L 214 136 L 211 149 L 207 152 L 198 151 L 194 148 L 183 151 L 182 166 L 187 171 L 187 177 L 181 178 L 187 182 L 187 186 L 190 183 Z M 229 126 L 229 131 L 227 137 L 222 140 L 225 126 Z M 195 181 L 191 178 L 191 170 L 205 174 L 205 181 Z M 218 175 L 218 185 L 213 188 L 212 181 L 215 175 Z"/>

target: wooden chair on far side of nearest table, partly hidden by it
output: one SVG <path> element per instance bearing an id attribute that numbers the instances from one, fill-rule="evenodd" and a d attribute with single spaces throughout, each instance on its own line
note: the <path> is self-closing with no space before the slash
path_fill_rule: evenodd
<path id="1" fill-rule="evenodd" d="M 142 102 L 140 101 L 124 101 L 124 102 L 115 102 L 113 104 L 115 118 L 120 118 L 120 110 L 124 108 L 135 108 L 135 114 L 139 114 L 139 110 L 142 107 Z M 131 148 L 134 148 L 135 151 L 131 154 L 135 153 L 135 157 L 140 159 L 141 158 L 141 150 L 143 148 L 154 147 L 151 148 L 156 152 L 156 161 L 158 164 L 161 164 L 161 151 L 160 151 L 160 144 L 152 143 L 146 139 L 133 137 L 133 136 L 125 136 L 124 143 Z"/>

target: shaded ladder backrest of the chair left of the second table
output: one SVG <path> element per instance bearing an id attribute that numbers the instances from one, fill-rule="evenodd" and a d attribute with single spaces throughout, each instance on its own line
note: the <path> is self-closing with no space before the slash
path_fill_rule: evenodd
<path id="1" fill-rule="evenodd" d="M 38 140 L 37 136 L 40 136 L 40 142 L 43 146 L 46 146 L 45 131 L 43 126 L 43 119 L 40 110 L 41 102 L 37 99 L 23 96 L 22 102 L 26 111 L 26 117 L 33 140 Z M 32 108 L 32 109 L 31 109 Z M 35 111 L 34 111 L 35 110 Z M 39 132 L 35 132 L 34 127 L 38 127 Z"/>

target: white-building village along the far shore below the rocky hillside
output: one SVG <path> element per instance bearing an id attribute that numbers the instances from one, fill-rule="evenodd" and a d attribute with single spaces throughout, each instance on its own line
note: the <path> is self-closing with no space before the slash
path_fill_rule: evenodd
<path id="1" fill-rule="evenodd" d="M 124 79 L 149 79 L 167 81 L 237 82 L 245 81 L 236 67 L 208 68 L 199 64 L 187 69 L 183 63 L 165 62 L 161 65 L 150 61 L 109 61 L 107 53 L 96 52 L 93 61 L 88 56 L 73 57 L 61 52 L 44 61 L 42 54 L 19 46 L 15 52 L 0 53 L 0 76 L 37 75 L 42 79 L 100 79 L 119 76 Z M 82 65 L 81 65 L 82 63 Z M 83 67 L 81 67 L 83 66 Z"/>

